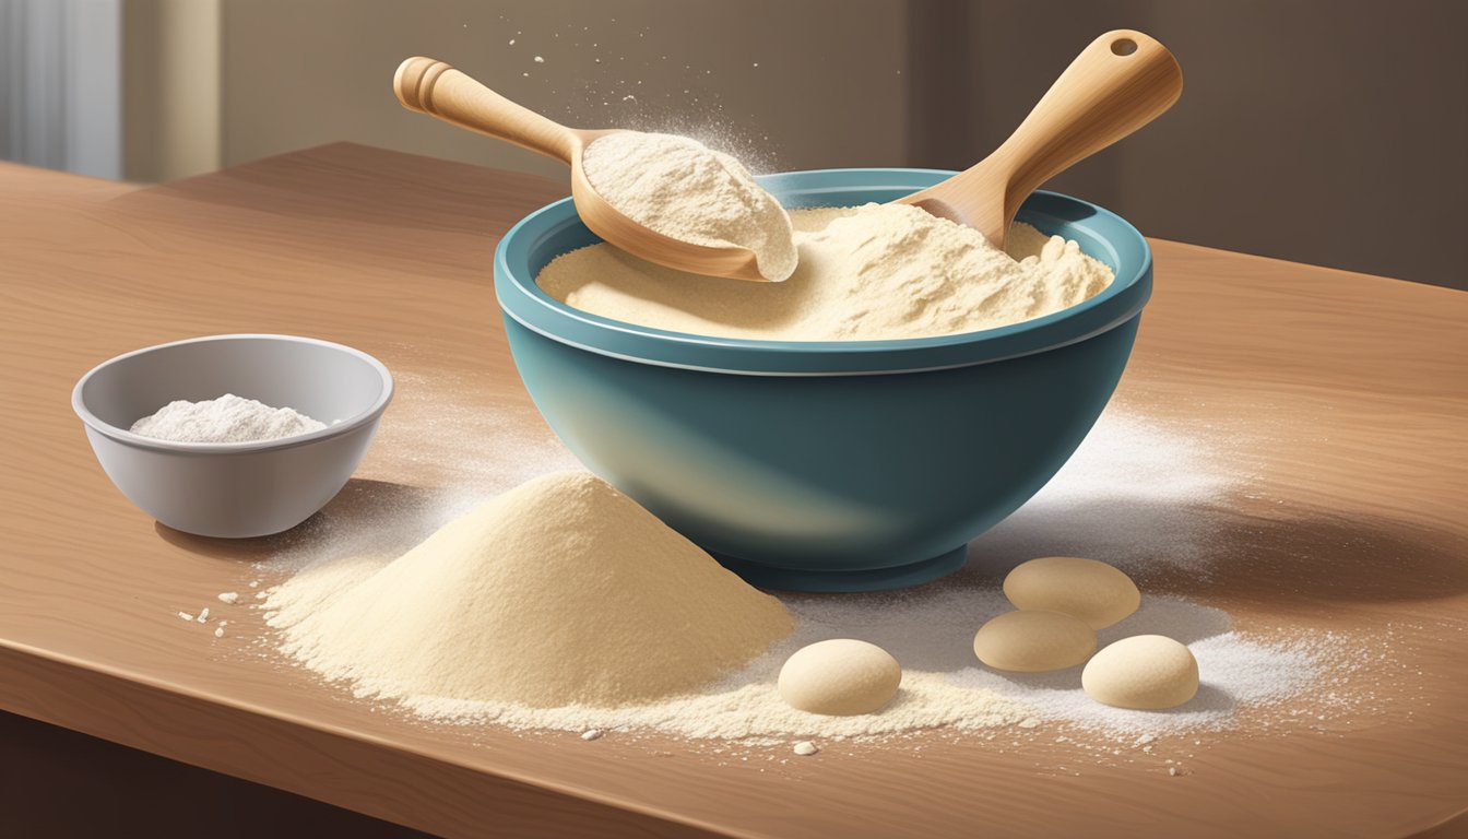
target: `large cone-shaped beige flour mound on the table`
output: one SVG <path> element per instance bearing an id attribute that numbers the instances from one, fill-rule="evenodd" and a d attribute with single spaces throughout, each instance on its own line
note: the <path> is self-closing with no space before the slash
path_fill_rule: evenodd
<path id="1" fill-rule="evenodd" d="M 285 651 L 358 695 L 615 708 L 697 691 L 790 613 L 587 473 L 524 483 L 342 585 L 272 592 Z"/>

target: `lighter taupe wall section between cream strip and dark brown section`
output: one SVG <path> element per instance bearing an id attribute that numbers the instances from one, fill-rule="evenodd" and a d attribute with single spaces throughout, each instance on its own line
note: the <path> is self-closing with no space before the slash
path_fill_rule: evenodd
<path id="1" fill-rule="evenodd" d="M 222 156 L 357 140 L 564 176 L 398 106 L 393 69 L 427 54 L 571 125 L 688 132 L 762 169 L 901 162 L 904 28 L 882 0 L 226 0 Z"/>

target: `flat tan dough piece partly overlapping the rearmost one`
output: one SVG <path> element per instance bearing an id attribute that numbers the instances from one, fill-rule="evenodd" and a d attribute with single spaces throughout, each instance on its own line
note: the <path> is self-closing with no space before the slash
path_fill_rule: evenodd
<path id="1" fill-rule="evenodd" d="M 995 670 L 1039 673 L 1083 663 L 1097 651 L 1097 632 L 1058 611 L 1009 611 L 979 627 L 973 654 Z"/>

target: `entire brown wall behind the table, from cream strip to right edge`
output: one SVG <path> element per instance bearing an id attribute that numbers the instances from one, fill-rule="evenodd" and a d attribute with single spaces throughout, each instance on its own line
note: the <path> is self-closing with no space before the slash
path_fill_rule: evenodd
<path id="1" fill-rule="evenodd" d="M 962 168 L 1003 141 L 1085 43 L 1133 26 L 1169 44 L 1188 90 L 1053 188 L 1148 235 L 1468 287 L 1455 253 L 1468 229 L 1468 3 L 1456 0 L 125 9 L 128 175 L 157 181 L 338 140 L 562 176 L 404 112 L 389 79 L 410 54 L 573 125 L 690 132 L 762 170 Z"/>

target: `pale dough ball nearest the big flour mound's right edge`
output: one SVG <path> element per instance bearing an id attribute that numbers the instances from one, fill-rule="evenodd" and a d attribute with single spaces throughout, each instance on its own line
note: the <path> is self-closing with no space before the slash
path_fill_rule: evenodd
<path id="1" fill-rule="evenodd" d="M 901 680 L 901 666 L 881 647 L 835 638 L 797 649 L 780 669 L 777 686 L 791 708 L 851 717 L 881 710 Z"/>

